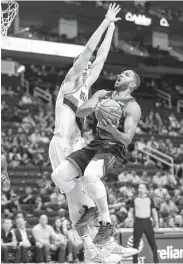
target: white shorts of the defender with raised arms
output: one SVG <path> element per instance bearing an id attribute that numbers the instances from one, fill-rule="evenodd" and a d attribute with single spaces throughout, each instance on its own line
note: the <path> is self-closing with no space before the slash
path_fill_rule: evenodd
<path id="1" fill-rule="evenodd" d="M 49 145 L 49 158 L 52 169 L 55 170 L 60 163 L 72 152 L 84 147 L 84 139 L 71 140 L 54 135 Z"/>

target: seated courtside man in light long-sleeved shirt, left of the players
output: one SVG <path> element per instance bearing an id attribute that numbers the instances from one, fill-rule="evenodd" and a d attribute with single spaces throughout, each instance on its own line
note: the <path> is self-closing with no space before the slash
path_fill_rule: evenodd
<path id="1" fill-rule="evenodd" d="M 48 225 L 48 218 L 46 215 L 41 215 L 39 224 L 34 226 L 32 234 L 36 244 L 36 262 L 48 263 L 50 250 L 55 250 L 53 241 L 59 241 L 59 236 L 54 232 L 53 228 Z"/>

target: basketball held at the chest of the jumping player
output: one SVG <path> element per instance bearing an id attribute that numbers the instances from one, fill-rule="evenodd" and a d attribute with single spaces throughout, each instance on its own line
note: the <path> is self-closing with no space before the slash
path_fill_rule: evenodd
<path id="1" fill-rule="evenodd" d="M 102 119 L 107 120 L 109 118 L 114 125 L 119 121 L 121 115 L 121 106 L 112 99 L 102 100 L 95 109 L 95 116 L 98 121 Z"/>

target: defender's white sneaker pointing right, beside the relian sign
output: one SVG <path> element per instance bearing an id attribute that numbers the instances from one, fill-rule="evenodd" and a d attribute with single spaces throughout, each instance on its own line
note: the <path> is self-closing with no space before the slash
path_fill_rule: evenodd
<path id="1" fill-rule="evenodd" d="M 119 245 L 114 238 L 111 237 L 110 241 L 106 242 L 105 245 L 99 245 L 105 256 L 110 254 L 121 255 L 122 258 L 128 258 L 138 253 L 136 248 L 125 248 Z"/>

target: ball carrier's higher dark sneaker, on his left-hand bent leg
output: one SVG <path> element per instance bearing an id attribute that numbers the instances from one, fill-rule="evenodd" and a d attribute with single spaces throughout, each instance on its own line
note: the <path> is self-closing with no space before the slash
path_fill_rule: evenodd
<path id="1" fill-rule="evenodd" d="M 89 224 L 95 217 L 98 216 L 98 208 L 83 206 L 85 209 L 84 214 L 82 215 L 81 219 L 76 223 L 77 226 L 85 226 Z"/>

